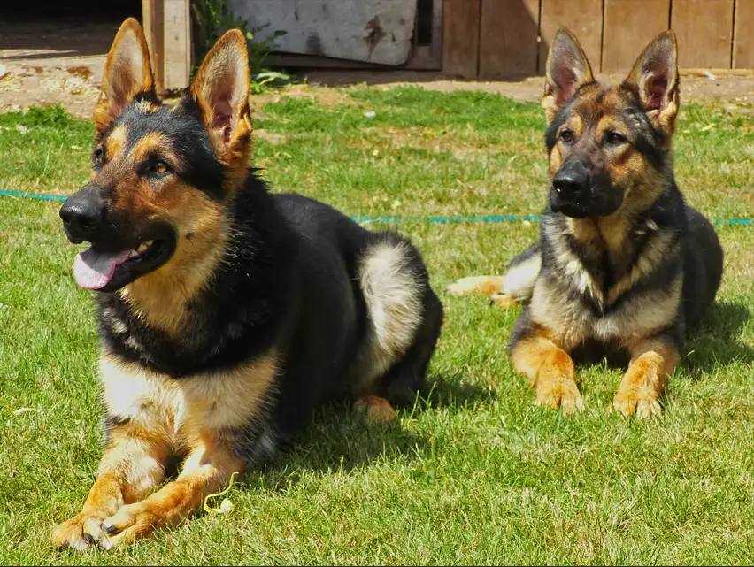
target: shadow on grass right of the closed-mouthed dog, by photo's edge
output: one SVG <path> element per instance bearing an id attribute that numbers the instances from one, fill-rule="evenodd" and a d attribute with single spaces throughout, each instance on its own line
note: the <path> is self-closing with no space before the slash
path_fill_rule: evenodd
<path id="1" fill-rule="evenodd" d="M 754 362 L 754 349 L 741 338 L 750 311 L 739 303 L 716 302 L 689 332 L 682 365 L 693 379 L 702 379 L 721 366 Z"/>

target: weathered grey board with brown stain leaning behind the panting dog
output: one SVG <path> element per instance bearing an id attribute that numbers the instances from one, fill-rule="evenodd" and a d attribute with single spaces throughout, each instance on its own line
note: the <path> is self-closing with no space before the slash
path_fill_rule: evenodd
<path id="1" fill-rule="evenodd" d="M 258 39 L 276 30 L 282 53 L 338 57 L 402 65 L 412 55 L 417 0 L 228 0 L 228 8 L 264 27 Z"/>

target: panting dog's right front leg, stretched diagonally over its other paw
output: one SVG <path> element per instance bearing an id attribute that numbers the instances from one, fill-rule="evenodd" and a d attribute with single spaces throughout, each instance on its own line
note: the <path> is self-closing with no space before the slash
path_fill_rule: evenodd
<path id="1" fill-rule="evenodd" d="M 121 507 L 102 523 L 104 548 L 149 535 L 155 529 L 178 525 L 197 510 L 204 498 L 227 486 L 234 472 L 243 471 L 243 462 L 227 448 L 226 442 L 204 439 L 196 443 L 173 482 L 142 502 Z"/>

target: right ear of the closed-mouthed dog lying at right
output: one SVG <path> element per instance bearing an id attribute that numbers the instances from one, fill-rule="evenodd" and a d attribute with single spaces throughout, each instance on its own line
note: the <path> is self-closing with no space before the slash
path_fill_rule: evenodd
<path id="1" fill-rule="evenodd" d="M 623 86 L 639 96 L 654 126 L 673 134 L 681 106 L 678 83 L 678 42 L 667 30 L 642 51 Z"/>

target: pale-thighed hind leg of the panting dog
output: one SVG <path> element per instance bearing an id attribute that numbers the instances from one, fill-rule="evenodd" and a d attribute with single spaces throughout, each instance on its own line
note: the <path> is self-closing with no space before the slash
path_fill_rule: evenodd
<path id="1" fill-rule="evenodd" d="M 357 407 L 379 421 L 391 404 L 411 404 L 424 385 L 442 326 L 442 303 L 419 252 L 396 234 L 379 234 L 359 266 L 367 337 L 358 359 Z"/>

